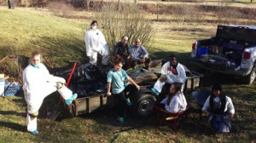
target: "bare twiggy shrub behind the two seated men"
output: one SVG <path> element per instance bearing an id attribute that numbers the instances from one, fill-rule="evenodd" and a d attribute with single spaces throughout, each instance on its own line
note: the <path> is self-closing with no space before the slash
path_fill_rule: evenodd
<path id="1" fill-rule="evenodd" d="M 95 16 L 99 25 L 102 26 L 108 46 L 113 47 L 122 36 L 126 35 L 130 43 L 139 37 L 148 49 L 153 40 L 153 23 L 147 20 L 145 14 L 134 4 L 124 4 L 121 8 L 118 10 L 117 4 L 114 3 L 105 5 Z"/>

